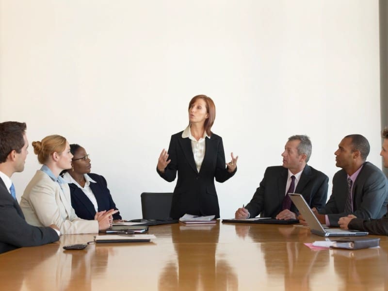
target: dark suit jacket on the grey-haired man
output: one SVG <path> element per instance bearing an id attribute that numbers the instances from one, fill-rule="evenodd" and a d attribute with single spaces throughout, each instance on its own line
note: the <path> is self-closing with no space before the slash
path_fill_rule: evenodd
<path id="1" fill-rule="evenodd" d="M 275 217 L 282 211 L 282 203 L 286 194 L 288 169 L 283 166 L 268 167 L 264 178 L 256 189 L 252 200 L 245 206 L 250 217 L 261 214 L 261 217 Z M 302 194 L 308 205 L 318 210 L 321 209 L 327 199 L 329 178 L 322 172 L 306 165 L 294 193 Z M 291 205 L 291 211 L 297 213 L 295 205 Z"/>

